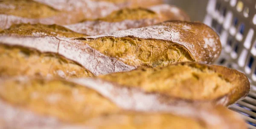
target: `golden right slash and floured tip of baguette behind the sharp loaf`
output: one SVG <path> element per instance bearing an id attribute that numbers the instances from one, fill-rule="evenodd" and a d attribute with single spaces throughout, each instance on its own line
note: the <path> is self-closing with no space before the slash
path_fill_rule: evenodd
<path id="1" fill-rule="evenodd" d="M 107 22 L 120 22 L 122 20 L 156 19 L 159 22 L 166 20 L 189 20 L 189 16 L 176 6 L 160 4 L 148 8 L 124 8 L 113 11 L 106 17 L 99 18 Z"/>

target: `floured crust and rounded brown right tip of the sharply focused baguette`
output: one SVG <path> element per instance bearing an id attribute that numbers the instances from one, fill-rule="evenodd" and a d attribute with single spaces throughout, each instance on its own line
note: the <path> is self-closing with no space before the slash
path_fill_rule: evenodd
<path id="1" fill-rule="evenodd" d="M 136 37 L 167 40 L 183 46 L 197 62 L 213 63 L 221 52 L 218 34 L 203 23 L 167 21 L 155 26 L 111 32 L 103 35 L 76 38 L 96 40 L 101 37 Z"/>

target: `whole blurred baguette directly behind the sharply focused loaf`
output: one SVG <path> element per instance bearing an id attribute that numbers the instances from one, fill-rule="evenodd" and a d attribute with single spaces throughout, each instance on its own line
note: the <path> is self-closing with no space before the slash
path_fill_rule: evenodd
<path id="1" fill-rule="evenodd" d="M 21 22 L 21 24 L 18 24 L 18 22 L 15 23 L 15 25 L 10 26 L 12 24 L 12 20 L 7 20 L 6 22 L 9 23 L 2 24 L 5 30 L 0 32 L 0 34 L 83 37 L 151 26 L 165 20 L 189 20 L 189 17 L 179 8 L 163 4 L 151 6 L 149 8 L 125 8 L 113 11 L 107 17 L 97 20 L 85 20 L 80 23 L 70 25 L 45 25 L 27 21 L 24 23 Z"/>

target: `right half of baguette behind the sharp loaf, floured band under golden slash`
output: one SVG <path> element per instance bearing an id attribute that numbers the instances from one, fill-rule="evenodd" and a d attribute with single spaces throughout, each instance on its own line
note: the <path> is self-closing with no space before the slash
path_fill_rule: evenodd
<path id="1" fill-rule="evenodd" d="M 64 27 L 77 33 L 92 36 L 151 26 L 166 20 L 189 20 L 189 17 L 184 11 L 175 6 L 161 4 L 148 8 L 125 8 L 114 11 L 107 17 L 96 21 L 85 20 L 81 23 L 64 25 Z"/>

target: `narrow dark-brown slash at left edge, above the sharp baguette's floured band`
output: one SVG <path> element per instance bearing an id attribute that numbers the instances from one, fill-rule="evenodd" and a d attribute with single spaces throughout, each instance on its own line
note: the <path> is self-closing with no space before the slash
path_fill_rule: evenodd
<path id="1" fill-rule="evenodd" d="M 5 29 L 0 32 L 0 34 L 19 34 L 19 35 L 31 35 L 31 36 L 41 36 L 41 35 L 52 35 L 58 37 L 84 37 L 86 34 L 79 34 L 71 31 L 62 26 L 56 24 L 44 25 L 44 24 L 17 24 L 12 25 L 9 29 Z"/>

